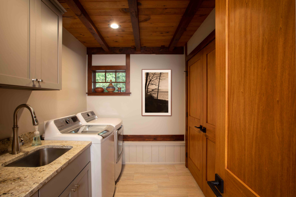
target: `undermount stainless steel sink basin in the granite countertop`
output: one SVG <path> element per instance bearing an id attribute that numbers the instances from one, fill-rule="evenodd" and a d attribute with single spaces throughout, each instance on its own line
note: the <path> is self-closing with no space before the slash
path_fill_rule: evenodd
<path id="1" fill-rule="evenodd" d="M 50 164 L 71 148 L 42 148 L 22 157 L 5 167 L 40 167 Z"/>

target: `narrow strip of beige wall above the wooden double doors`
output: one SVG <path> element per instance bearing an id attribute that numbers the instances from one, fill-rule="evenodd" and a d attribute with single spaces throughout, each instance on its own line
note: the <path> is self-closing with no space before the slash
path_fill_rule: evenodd
<path id="1" fill-rule="evenodd" d="M 187 42 L 187 55 L 215 29 L 215 8 Z"/>

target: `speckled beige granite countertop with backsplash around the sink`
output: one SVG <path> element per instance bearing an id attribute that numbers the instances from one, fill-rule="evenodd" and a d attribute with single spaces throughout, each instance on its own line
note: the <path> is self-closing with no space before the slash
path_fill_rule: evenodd
<path id="1" fill-rule="evenodd" d="M 42 140 L 41 146 L 32 147 L 30 143 L 24 144 L 20 147 L 21 153 L 17 155 L 4 153 L 0 156 L 0 196 L 31 196 L 90 145 L 91 141 Z M 42 148 L 71 148 L 71 150 L 45 166 L 4 167 Z"/>

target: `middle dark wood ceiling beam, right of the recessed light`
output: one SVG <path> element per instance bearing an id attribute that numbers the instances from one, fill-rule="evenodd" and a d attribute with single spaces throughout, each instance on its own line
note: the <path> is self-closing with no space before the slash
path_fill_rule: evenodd
<path id="1" fill-rule="evenodd" d="M 136 51 L 141 51 L 137 0 L 128 0 L 128 2 L 129 2 L 129 13 L 131 15 L 132 31 L 134 33 Z"/>

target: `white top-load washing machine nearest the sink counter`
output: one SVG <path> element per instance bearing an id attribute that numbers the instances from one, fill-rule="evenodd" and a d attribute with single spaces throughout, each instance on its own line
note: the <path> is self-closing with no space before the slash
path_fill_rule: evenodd
<path id="1" fill-rule="evenodd" d="M 44 122 L 45 140 L 91 141 L 92 197 L 112 197 L 114 181 L 114 127 L 83 125 L 77 116 Z"/>

